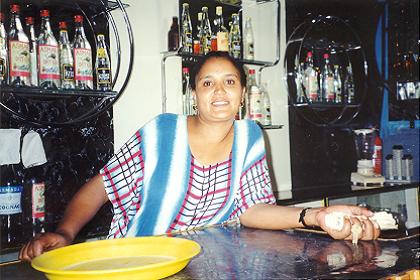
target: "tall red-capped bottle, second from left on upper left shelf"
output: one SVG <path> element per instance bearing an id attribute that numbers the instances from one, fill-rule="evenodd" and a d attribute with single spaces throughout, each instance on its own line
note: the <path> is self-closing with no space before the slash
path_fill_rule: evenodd
<path id="1" fill-rule="evenodd" d="M 29 39 L 23 31 L 20 21 L 20 6 L 13 4 L 10 8 L 11 20 L 9 39 L 9 84 L 29 86 L 31 84 L 31 60 Z"/>

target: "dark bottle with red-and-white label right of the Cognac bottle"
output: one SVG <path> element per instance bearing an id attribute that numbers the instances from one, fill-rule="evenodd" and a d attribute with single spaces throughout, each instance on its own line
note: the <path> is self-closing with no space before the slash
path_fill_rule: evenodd
<path id="1" fill-rule="evenodd" d="M 42 174 L 41 166 L 25 170 L 23 214 L 28 238 L 45 231 L 45 181 Z"/>

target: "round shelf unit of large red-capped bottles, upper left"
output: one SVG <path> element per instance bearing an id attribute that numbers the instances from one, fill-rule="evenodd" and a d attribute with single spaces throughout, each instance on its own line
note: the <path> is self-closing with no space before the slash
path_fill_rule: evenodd
<path id="1" fill-rule="evenodd" d="M 111 70 L 111 11 L 117 1 L 2 1 L 0 105 L 15 117 L 39 125 L 73 124 L 110 108 L 121 64 L 119 38 Z M 127 32 L 131 32 L 128 20 Z M 116 33 L 117 34 L 117 33 Z M 117 36 L 118 37 L 118 36 Z M 129 59 L 132 60 L 132 53 Z M 129 63 L 131 67 L 131 63 Z M 128 72 L 130 73 L 130 72 Z M 35 108 L 56 112 L 47 116 Z"/>

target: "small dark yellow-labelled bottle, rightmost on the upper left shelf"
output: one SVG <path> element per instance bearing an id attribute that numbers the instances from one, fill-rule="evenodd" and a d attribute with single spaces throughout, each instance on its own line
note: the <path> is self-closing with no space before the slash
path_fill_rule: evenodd
<path id="1" fill-rule="evenodd" d="M 98 90 L 111 90 L 111 61 L 105 44 L 105 36 L 98 34 L 96 46 L 96 87 Z"/>

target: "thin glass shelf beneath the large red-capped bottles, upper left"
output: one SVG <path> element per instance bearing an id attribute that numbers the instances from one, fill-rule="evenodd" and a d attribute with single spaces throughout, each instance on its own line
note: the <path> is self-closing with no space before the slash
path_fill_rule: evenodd
<path id="1" fill-rule="evenodd" d="M 65 96 L 80 96 L 80 97 L 98 97 L 98 98 L 115 98 L 116 91 L 99 91 L 99 90 L 80 90 L 80 89 L 45 89 L 39 87 L 13 87 L 0 86 L 1 94 L 10 93 L 22 97 L 31 98 L 62 98 Z"/>

